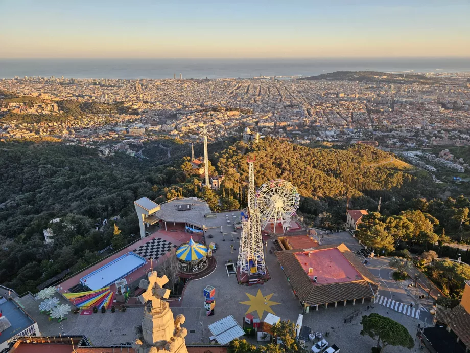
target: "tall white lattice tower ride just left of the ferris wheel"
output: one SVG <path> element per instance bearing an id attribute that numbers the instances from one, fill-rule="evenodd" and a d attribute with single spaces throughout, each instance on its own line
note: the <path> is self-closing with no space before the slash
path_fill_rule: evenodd
<path id="1" fill-rule="evenodd" d="M 243 274 L 249 276 L 266 275 L 260 213 L 255 205 L 254 162 L 255 159 L 248 158 L 248 217 L 242 218 L 242 236 L 237 261 L 240 278 Z"/>

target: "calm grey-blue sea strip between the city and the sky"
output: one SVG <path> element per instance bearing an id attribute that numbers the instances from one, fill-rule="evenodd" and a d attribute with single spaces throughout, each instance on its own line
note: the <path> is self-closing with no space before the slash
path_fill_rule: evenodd
<path id="1" fill-rule="evenodd" d="M 470 58 L 0 59 L 0 78 L 217 79 L 313 76 L 334 71 L 470 72 Z"/>

